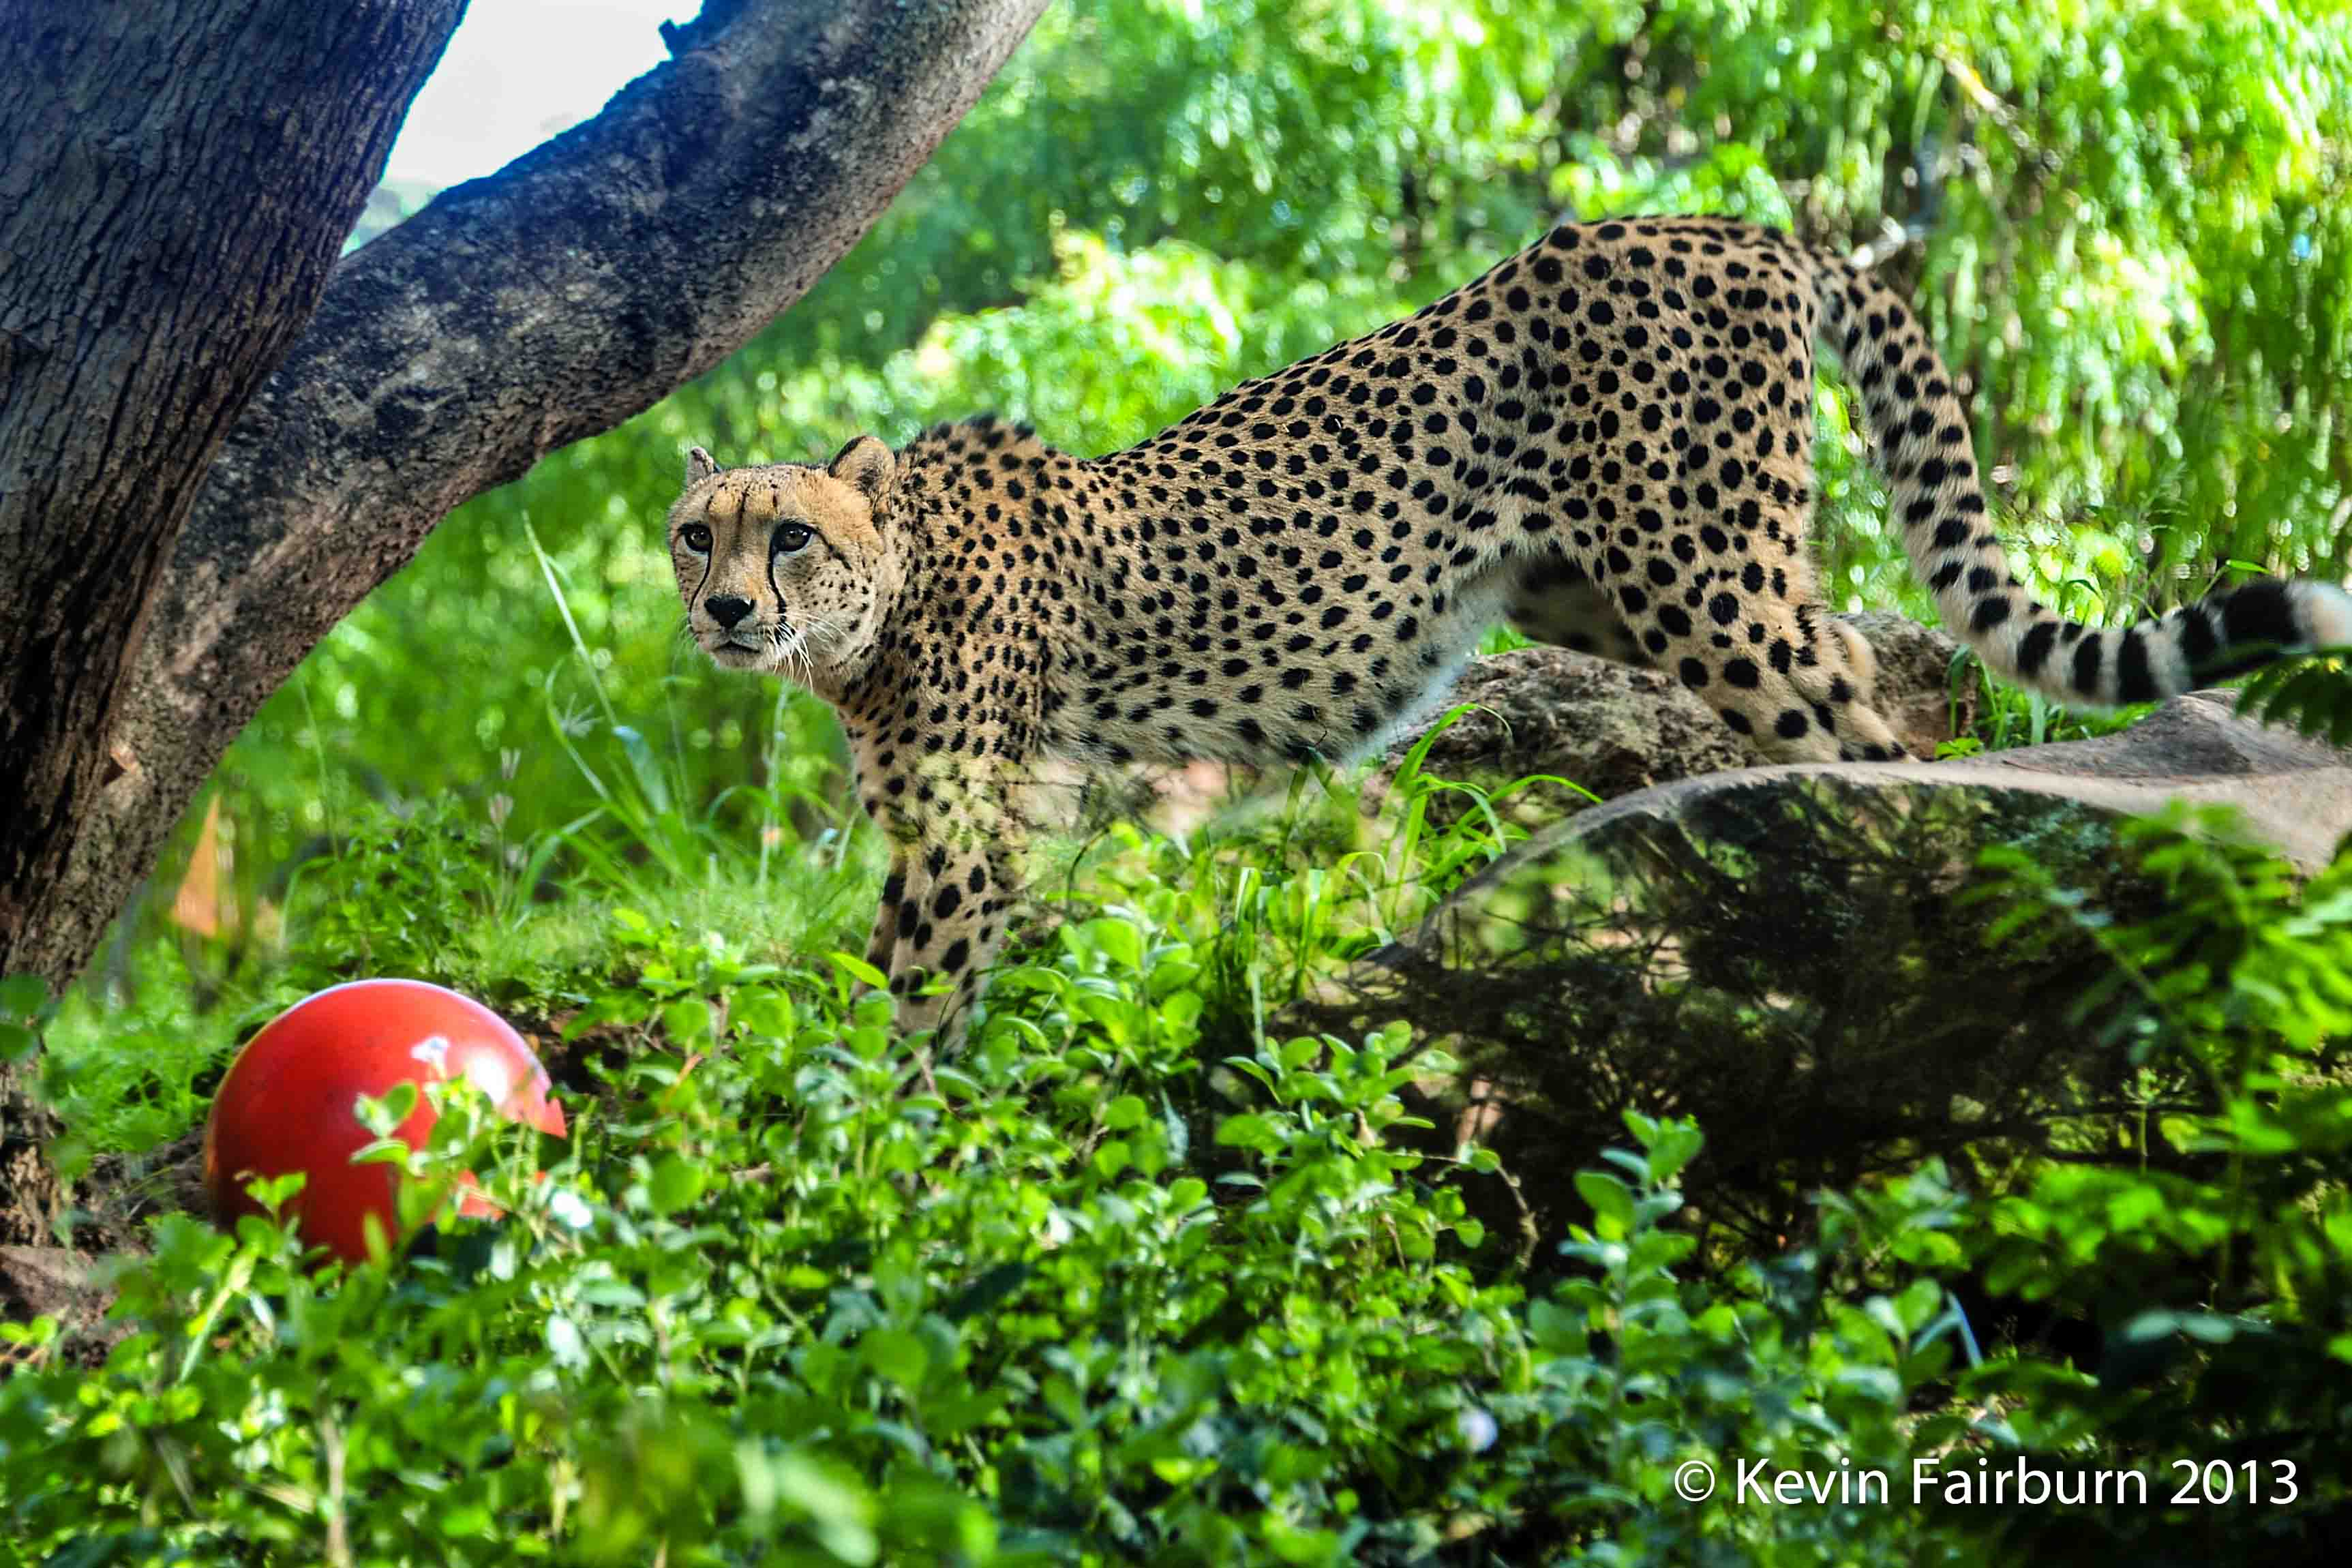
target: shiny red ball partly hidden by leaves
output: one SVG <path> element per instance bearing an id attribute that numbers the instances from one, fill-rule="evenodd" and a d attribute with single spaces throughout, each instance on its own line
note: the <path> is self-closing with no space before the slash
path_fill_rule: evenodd
<path id="1" fill-rule="evenodd" d="M 303 997 L 261 1027 L 228 1065 L 205 1124 L 205 1187 L 221 1225 L 261 1213 L 245 1192 L 254 1175 L 301 1171 L 303 1190 L 287 1206 L 303 1241 L 346 1262 L 367 1258 L 367 1215 L 383 1237 L 397 1229 L 393 1166 L 355 1166 L 367 1145 L 353 1107 L 360 1095 L 419 1086 L 416 1110 L 393 1128 L 423 1147 L 435 1110 L 426 1084 L 470 1079 L 513 1121 L 564 1133 L 564 1110 L 548 1098 L 548 1070 L 503 1018 L 473 997 L 423 980 L 353 980 Z M 475 1197 L 466 1213 L 492 1213 Z"/>

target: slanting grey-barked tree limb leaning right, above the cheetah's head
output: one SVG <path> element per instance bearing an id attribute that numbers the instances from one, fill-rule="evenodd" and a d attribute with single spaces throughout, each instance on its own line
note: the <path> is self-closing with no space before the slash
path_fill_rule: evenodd
<path id="1" fill-rule="evenodd" d="M 120 773 L 54 816 L 66 872 L 16 896 L 0 969 L 73 976 L 261 701 L 442 515 L 800 299 L 1042 9 L 708 0 L 602 115 L 346 259 L 205 477 L 94 731 Z"/>

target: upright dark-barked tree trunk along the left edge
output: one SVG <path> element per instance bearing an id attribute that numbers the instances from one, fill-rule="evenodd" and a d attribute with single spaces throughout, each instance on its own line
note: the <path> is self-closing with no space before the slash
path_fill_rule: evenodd
<path id="1" fill-rule="evenodd" d="M 0 973 L 40 964 L 148 599 L 463 0 L 0 7 Z M 24 1100 L 0 1126 L 21 1164 Z M 24 1194 L 19 1194 L 21 1199 Z M 0 1241 L 19 1234 L 0 1213 Z"/>

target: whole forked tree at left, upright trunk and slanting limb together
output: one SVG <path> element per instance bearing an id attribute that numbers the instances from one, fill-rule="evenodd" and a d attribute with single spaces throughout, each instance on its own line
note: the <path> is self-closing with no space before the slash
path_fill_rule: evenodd
<path id="1" fill-rule="evenodd" d="M 61 63 L 0 85 L 0 973 L 75 976 L 301 656 L 461 501 L 800 299 L 1044 0 L 706 0 L 320 296 L 459 7 L 0 0 Z"/>

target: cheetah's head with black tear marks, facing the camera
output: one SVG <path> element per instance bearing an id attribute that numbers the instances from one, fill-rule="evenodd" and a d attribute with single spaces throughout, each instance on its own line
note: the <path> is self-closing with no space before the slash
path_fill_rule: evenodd
<path id="1" fill-rule="evenodd" d="M 898 461 L 870 435 L 826 468 L 720 468 L 696 447 L 670 508 L 687 630 L 729 670 L 833 698 L 873 656 L 896 555 L 882 531 Z"/>

